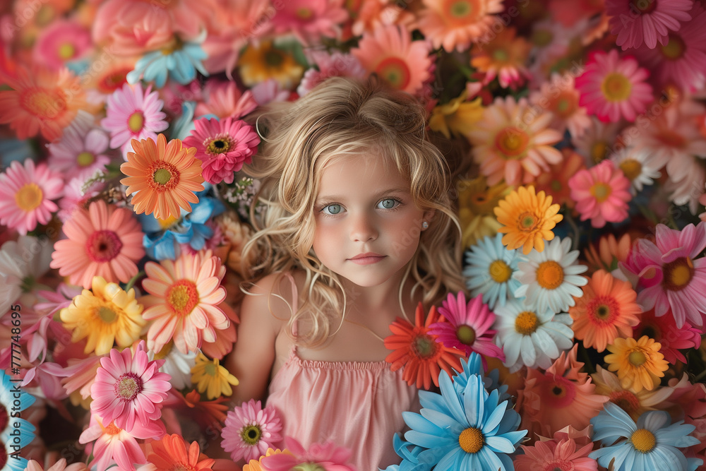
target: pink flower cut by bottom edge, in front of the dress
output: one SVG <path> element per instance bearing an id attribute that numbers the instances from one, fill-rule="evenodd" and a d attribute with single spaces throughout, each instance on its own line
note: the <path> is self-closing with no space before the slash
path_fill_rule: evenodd
<path id="1" fill-rule="evenodd" d="M 335 446 L 333 443 L 312 443 L 309 450 L 301 446 L 297 440 L 288 436 L 285 439 L 287 450 L 292 455 L 280 453 L 263 458 L 261 465 L 267 471 L 290 471 L 295 466 L 301 469 L 311 469 L 321 471 L 356 471 L 353 465 L 347 461 L 351 456 L 351 451 L 342 446 Z"/>

